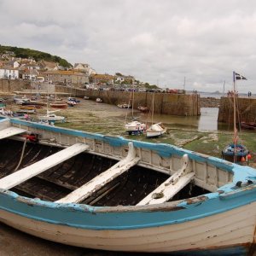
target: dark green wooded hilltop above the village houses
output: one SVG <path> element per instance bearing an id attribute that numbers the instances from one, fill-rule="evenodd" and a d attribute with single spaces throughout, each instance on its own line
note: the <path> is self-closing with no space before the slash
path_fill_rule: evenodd
<path id="1" fill-rule="evenodd" d="M 67 62 L 65 59 L 62 59 L 56 55 L 50 55 L 49 53 L 35 50 L 35 49 L 25 49 L 20 47 L 13 46 L 4 46 L 0 45 L 0 55 L 5 53 L 6 51 L 12 51 L 15 53 L 15 57 L 17 58 L 33 58 L 35 61 L 53 61 L 58 62 L 62 67 L 72 67 L 72 65 Z"/>

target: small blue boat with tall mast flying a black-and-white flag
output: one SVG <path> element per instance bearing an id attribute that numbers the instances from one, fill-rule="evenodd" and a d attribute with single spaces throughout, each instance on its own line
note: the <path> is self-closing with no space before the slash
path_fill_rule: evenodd
<path id="1" fill-rule="evenodd" d="M 240 74 L 233 72 L 233 122 L 234 122 L 234 135 L 233 142 L 230 143 L 222 150 L 222 158 L 224 160 L 229 160 L 234 163 L 243 163 L 247 162 L 251 158 L 251 154 L 249 154 L 249 150 L 243 144 L 238 142 L 237 129 L 236 129 L 236 80 L 247 80 L 245 77 Z"/>

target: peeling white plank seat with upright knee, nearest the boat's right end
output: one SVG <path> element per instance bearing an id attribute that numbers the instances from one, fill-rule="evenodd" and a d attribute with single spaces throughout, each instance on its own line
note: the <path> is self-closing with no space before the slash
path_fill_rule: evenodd
<path id="1" fill-rule="evenodd" d="M 143 198 L 137 206 L 159 204 L 172 199 L 172 197 L 183 189 L 195 176 L 195 172 L 186 172 L 188 163 L 188 154 L 183 154 L 183 166 L 181 169 L 173 173 L 173 175 L 166 179 L 164 183 L 161 183 L 158 188 L 154 189 L 153 192 Z"/>

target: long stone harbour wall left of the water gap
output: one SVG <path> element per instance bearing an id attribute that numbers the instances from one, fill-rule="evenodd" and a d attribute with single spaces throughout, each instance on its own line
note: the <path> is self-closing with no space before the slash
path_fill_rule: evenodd
<path id="1" fill-rule="evenodd" d="M 200 115 L 200 96 L 197 94 L 183 95 L 170 93 L 134 92 L 134 97 L 129 91 L 117 90 L 82 90 L 70 87 L 56 86 L 56 92 L 66 92 L 73 96 L 89 96 L 90 100 L 95 101 L 97 97 L 102 98 L 103 102 L 117 105 L 119 103 L 132 103 L 133 108 L 139 106 L 152 109 L 154 97 L 154 113 L 164 113 L 180 116 Z"/>

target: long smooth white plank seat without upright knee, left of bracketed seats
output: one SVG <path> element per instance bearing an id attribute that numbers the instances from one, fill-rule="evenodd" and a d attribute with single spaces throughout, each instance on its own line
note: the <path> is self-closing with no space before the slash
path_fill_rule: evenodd
<path id="1" fill-rule="evenodd" d="M 20 171 L 14 172 L 0 179 L 0 189 L 11 189 L 16 185 L 25 182 L 31 177 L 72 158 L 73 156 L 88 150 L 90 147 L 83 143 L 76 143 L 73 146 L 62 149 L 61 151 L 40 160 L 31 166 L 27 166 Z"/>

